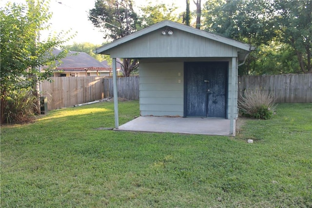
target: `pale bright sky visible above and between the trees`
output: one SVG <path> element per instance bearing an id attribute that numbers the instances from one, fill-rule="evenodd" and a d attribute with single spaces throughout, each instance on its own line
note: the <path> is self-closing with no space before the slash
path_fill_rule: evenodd
<path id="1" fill-rule="evenodd" d="M 0 0 L 1 7 L 8 1 L 25 3 L 25 0 Z M 61 31 L 71 30 L 70 34 L 76 36 L 65 45 L 82 42 L 90 42 L 101 45 L 106 42 L 103 39 L 103 33 L 93 26 L 92 22 L 88 20 L 88 11 L 94 8 L 96 0 L 50 0 L 50 12 L 53 13 L 51 20 L 51 27 L 49 31 L 40 32 L 40 40 L 45 40 L 49 33 L 60 33 Z M 158 0 L 167 4 L 174 2 L 179 7 L 179 11 L 185 10 L 185 0 Z M 146 5 L 149 0 L 134 0 L 135 5 Z M 195 4 L 190 1 L 191 10 L 195 9 Z M 193 8 L 192 8 L 193 7 Z"/>

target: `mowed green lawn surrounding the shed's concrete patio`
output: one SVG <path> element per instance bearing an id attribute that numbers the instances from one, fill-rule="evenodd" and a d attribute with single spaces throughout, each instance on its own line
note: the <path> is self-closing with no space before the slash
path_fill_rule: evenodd
<path id="1" fill-rule="evenodd" d="M 2 126 L 1 207 L 312 207 L 312 104 L 279 104 L 236 137 L 96 130 L 113 109 Z M 120 124 L 138 115 L 119 103 Z"/>

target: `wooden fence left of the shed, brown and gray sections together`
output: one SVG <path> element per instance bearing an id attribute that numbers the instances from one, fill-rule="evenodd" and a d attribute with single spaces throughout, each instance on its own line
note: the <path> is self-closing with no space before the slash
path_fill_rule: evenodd
<path id="1" fill-rule="evenodd" d="M 138 100 L 139 78 L 117 78 L 118 97 Z M 46 96 L 48 110 L 88 103 L 113 97 L 113 79 L 105 77 L 54 77 L 41 83 L 41 96 Z"/>

